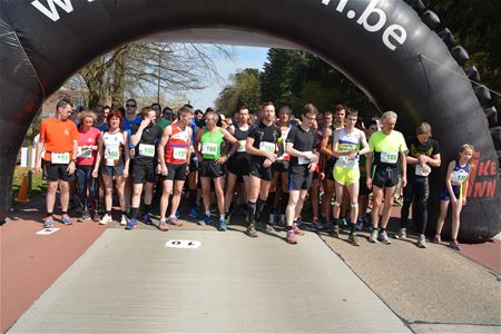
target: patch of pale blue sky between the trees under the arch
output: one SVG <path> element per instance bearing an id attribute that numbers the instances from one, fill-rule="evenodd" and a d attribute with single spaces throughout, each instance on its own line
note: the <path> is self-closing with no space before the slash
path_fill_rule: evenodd
<path id="1" fill-rule="evenodd" d="M 187 98 L 190 104 L 198 109 L 206 109 L 214 107 L 215 100 L 223 88 L 229 82 L 229 76 L 246 69 L 257 68 L 263 70 L 263 65 L 266 62 L 267 48 L 255 47 L 233 47 L 232 59 L 216 59 L 217 70 L 222 80 L 214 80 L 208 88 L 203 90 L 191 90 L 187 92 Z"/>

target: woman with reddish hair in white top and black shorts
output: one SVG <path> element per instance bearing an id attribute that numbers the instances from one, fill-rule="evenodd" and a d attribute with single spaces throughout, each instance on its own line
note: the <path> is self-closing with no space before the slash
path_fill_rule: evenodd
<path id="1" fill-rule="evenodd" d="M 108 130 L 102 132 L 99 138 L 99 150 L 96 157 L 96 165 L 94 167 L 92 176 L 98 177 L 100 169 L 102 181 L 105 183 L 105 216 L 99 222 L 101 225 L 112 222 L 111 206 L 114 178 L 117 183 L 118 199 L 120 202 L 120 225 L 127 224 L 125 181 L 129 176 L 130 159 L 129 150 L 127 149 L 129 147 L 129 136 L 126 131 L 120 130 L 122 119 L 124 118 L 120 111 L 110 111 L 106 120 L 108 124 Z"/>

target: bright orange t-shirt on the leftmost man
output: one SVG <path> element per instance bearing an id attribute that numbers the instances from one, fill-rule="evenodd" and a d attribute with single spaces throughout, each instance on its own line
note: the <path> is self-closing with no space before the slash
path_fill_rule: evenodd
<path id="1" fill-rule="evenodd" d="M 45 141 L 46 155 L 43 159 L 46 161 L 50 161 L 51 153 L 70 153 L 71 155 L 73 140 L 78 140 L 77 125 L 70 119 L 47 118 L 40 126 L 40 140 Z"/>

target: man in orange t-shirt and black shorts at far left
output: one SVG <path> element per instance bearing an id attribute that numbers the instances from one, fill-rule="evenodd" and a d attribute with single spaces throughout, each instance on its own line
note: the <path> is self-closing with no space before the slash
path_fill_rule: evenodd
<path id="1" fill-rule="evenodd" d="M 69 119 L 72 105 L 67 99 L 61 99 L 56 114 L 47 118 L 40 126 L 40 141 L 37 144 L 37 158 L 35 169 L 41 173 L 41 153 L 45 148 L 43 160 L 47 168 L 47 215 L 43 222 L 45 228 L 53 226 L 52 210 L 56 202 L 56 190 L 61 191 L 61 222 L 71 225 L 68 216 L 69 184 L 68 176 L 76 169 L 78 151 L 78 129 L 73 121 Z"/>

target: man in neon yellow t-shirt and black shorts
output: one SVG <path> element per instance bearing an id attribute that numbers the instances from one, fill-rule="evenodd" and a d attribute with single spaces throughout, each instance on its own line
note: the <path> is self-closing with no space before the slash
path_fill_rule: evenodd
<path id="1" fill-rule="evenodd" d="M 375 132 L 369 139 L 369 147 L 371 153 L 367 154 L 367 188 L 373 191 L 373 207 L 372 207 L 372 227 L 373 232 L 369 242 L 376 243 L 377 238 L 383 244 L 390 245 L 391 240 L 386 234 L 386 225 L 390 220 L 390 213 L 393 206 L 393 195 L 395 195 L 395 186 L 399 183 L 399 164 L 402 166 L 402 186 L 407 184 L 407 164 L 405 164 L 405 155 L 407 146 L 402 134 L 394 130 L 396 125 L 396 114 L 386 111 L 383 114 L 382 130 Z M 375 169 L 372 171 L 372 165 Z M 383 217 L 381 219 L 381 227 L 377 230 L 380 223 L 380 206 L 382 205 L 384 196 Z"/>

